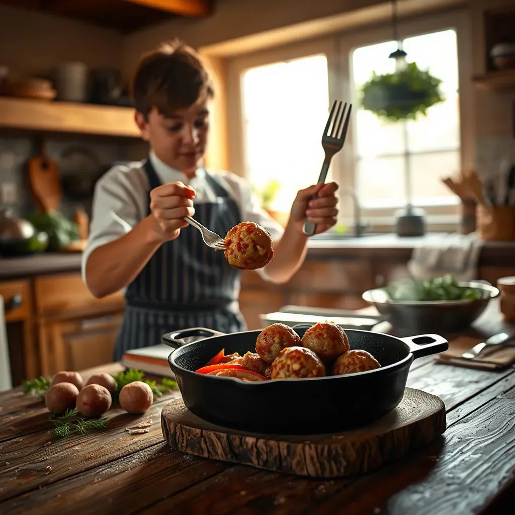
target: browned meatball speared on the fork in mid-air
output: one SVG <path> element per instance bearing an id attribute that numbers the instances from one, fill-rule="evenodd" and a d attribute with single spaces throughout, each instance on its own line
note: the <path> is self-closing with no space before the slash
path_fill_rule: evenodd
<path id="1" fill-rule="evenodd" d="M 234 268 L 263 268 L 273 258 L 270 233 L 254 222 L 242 222 L 234 226 L 225 237 L 225 246 L 226 259 Z"/>

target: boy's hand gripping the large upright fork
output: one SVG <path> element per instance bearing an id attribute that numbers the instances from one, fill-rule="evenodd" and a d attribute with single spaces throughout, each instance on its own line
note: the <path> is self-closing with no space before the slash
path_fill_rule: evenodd
<path id="1" fill-rule="evenodd" d="M 314 184 L 300 190 L 291 205 L 290 220 L 294 222 L 295 228 L 303 234 L 302 227 L 305 217 L 316 225 L 315 234 L 327 231 L 334 225 L 338 217 L 338 196 L 336 191 L 338 184 L 328 182 L 325 184 Z M 312 198 L 316 196 L 316 198 Z"/>

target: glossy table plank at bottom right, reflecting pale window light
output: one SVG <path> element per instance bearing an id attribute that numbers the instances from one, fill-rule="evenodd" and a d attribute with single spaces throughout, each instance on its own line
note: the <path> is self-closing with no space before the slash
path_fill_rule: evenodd
<path id="1" fill-rule="evenodd" d="M 359 480 L 317 512 L 332 514 L 345 505 L 350 514 L 480 512 L 513 482 L 514 402 L 515 386 L 454 423 L 440 444 Z"/>

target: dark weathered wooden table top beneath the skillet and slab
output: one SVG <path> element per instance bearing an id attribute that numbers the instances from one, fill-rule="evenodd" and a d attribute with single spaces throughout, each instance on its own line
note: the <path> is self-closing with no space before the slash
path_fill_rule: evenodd
<path id="1" fill-rule="evenodd" d="M 491 323 L 491 319 L 490 319 Z M 101 367 L 116 373 L 119 364 Z M 93 371 L 87 371 L 88 376 Z M 497 513 L 515 493 L 515 368 L 411 366 L 407 386 L 439 396 L 447 431 L 361 477 L 317 480 L 201 459 L 170 449 L 160 398 L 144 416 L 108 412 L 106 430 L 55 440 L 42 403 L 0 393 L 0 513 Z M 151 418 L 149 433 L 125 429 Z"/>

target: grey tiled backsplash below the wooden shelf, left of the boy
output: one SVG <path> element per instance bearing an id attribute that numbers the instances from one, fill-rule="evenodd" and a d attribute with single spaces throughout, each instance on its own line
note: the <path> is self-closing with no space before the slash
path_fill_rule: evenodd
<path id="1" fill-rule="evenodd" d="M 83 139 L 45 139 L 45 153 L 59 164 L 61 155 L 66 148 L 84 147 L 94 153 L 100 166 L 109 165 L 114 161 L 124 159 L 124 146 L 116 141 L 92 141 Z M 34 205 L 30 196 L 28 183 L 27 162 L 36 156 L 38 146 L 36 138 L 30 136 L 0 138 L 0 203 L 11 208 L 16 215 L 32 211 Z M 12 185 L 15 191 L 13 202 L 5 202 L 2 198 L 3 185 Z M 90 211 L 90 202 L 83 206 Z M 74 203 L 63 196 L 61 211 L 71 215 Z"/>

